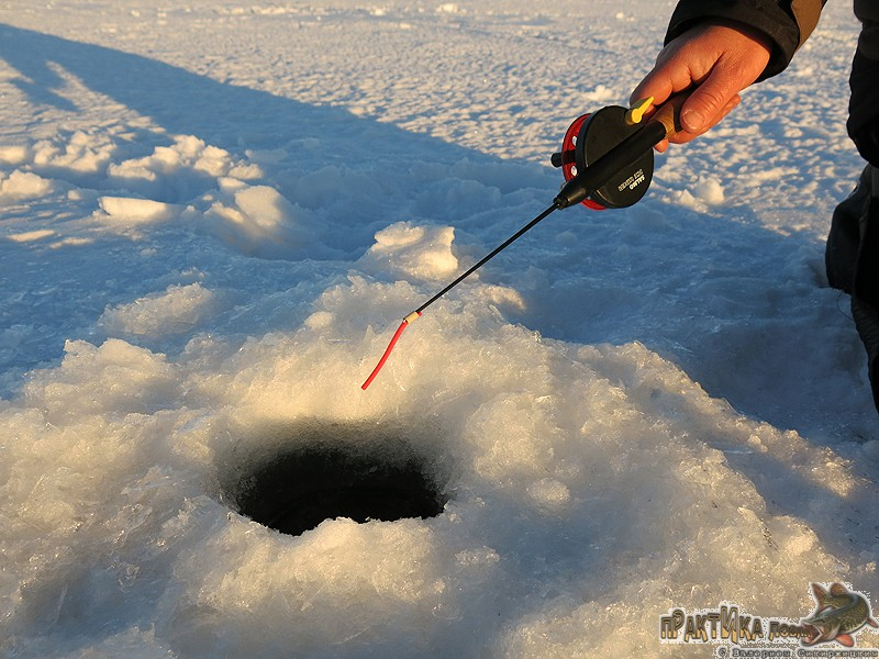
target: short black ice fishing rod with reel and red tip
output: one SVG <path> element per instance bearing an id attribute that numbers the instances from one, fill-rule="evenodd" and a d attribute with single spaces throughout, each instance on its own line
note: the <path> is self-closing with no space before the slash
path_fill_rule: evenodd
<path id="1" fill-rule="evenodd" d="M 553 204 L 407 315 L 360 389 L 366 390 L 372 383 L 403 331 L 421 317 L 425 309 L 554 211 L 576 204 L 601 211 L 637 203 L 653 180 L 653 147 L 680 132 L 680 109 L 687 97 L 689 92 L 686 91 L 672 96 L 646 121 L 645 113 L 653 104 L 653 98 L 643 99 L 631 108 L 608 105 L 577 118 L 565 133 L 561 150 L 552 157 L 553 166 L 561 168 L 566 181 Z"/>

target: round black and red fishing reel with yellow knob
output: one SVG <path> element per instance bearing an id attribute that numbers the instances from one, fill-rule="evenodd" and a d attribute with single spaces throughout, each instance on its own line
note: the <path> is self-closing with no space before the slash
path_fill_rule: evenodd
<path id="1" fill-rule="evenodd" d="M 649 105 L 649 101 L 646 104 Z M 553 154 L 553 167 L 560 167 L 565 181 L 571 181 L 637 132 L 645 109 L 643 102 L 631 109 L 608 105 L 577 118 L 565 133 L 561 153 Z M 653 165 L 653 148 L 647 148 L 580 203 L 596 211 L 624 209 L 637 203 L 650 187 Z"/>

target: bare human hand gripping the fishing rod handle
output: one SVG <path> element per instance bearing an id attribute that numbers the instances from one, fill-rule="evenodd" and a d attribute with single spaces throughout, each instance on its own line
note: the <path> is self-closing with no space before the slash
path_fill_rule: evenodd
<path id="1" fill-rule="evenodd" d="M 689 142 L 738 104 L 738 92 L 760 77 L 771 49 L 768 37 L 744 24 L 693 27 L 659 53 L 654 69 L 632 92 L 632 101 L 653 97 L 654 104 L 660 105 L 672 93 L 696 86 L 681 108 L 682 130 L 670 139 L 676 144 Z M 660 142 L 657 150 L 666 150 L 668 142 Z"/>

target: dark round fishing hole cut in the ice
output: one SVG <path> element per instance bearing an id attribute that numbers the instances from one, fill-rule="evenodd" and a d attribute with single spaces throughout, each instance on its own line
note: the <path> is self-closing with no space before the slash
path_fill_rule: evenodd
<path id="1" fill-rule="evenodd" d="M 435 457 L 371 431 L 326 424 L 269 440 L 274 449 L 240 471 L 229 492 L 237 511 L 293 536 L 337 517 L 365 523 L 441 514 L 448 496 Z"/>

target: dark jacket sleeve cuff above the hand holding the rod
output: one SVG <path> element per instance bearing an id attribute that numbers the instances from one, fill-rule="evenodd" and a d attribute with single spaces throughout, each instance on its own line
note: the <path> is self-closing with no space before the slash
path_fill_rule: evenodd
<path id="1" fill-rule="evenodd" d="M 690 27 L 714 21 L 735 21 L 772 41 L 772 55 L 760 80 L 780 74 L 817 24 L 826 0 L 680 0 L 666 43 Z"/>

